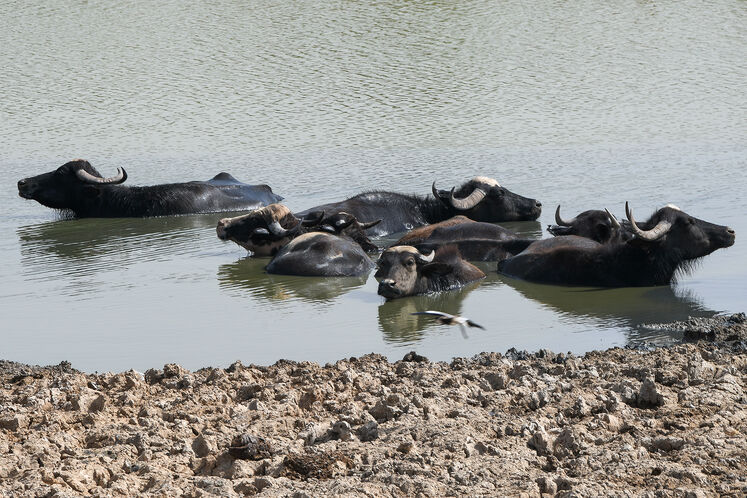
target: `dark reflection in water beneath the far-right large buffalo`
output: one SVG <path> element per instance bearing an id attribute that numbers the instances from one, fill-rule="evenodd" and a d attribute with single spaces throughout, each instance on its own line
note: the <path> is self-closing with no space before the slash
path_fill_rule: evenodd
<path id="1" fill-rule="evenodd" d="M 646 324 L 686 320 L 690 316 L 713 316 L 692 293 L 678 293 L 671 286 L 624 287 L 592 289 L 541 285 L 500 276 L 501 280 L 532 299 L 572 319 L 595 319 L 607 327 L 628 330 L 631 343 L 654 340 L 671 335 L 666 331 L 652 332 Z M 662 336 L 662 337 L 659 337 Z"/>

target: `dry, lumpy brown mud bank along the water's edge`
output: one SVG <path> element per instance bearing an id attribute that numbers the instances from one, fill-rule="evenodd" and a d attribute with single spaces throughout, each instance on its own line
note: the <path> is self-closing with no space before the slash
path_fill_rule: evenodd
<path id="1" fill-rule="evenodd" d="M 0 362 L 0 495 L 745 496 L 747 322 L 680 325 L 710 340 L 144 375 Z"/>

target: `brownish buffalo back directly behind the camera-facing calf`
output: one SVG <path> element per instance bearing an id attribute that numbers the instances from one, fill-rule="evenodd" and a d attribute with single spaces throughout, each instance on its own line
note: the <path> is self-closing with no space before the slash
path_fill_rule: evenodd
<path id="1" fill-rule="evenodd" d="M 470 261 L 500 261 L 526 249 L 535 239 L 519 237 L 515 232 L 492 223 L 455 216 L 446 221 L 411 230 L 394 246 L 414 246 L 430 252 L 444 245 L 454 245 Z"/>

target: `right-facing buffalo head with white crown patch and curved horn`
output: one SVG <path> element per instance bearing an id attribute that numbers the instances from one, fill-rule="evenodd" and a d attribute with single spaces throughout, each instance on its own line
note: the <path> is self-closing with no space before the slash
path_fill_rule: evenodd
<path id="1" fill-rule="evenodd" d="M 514 194 L 496 180 L 477 176 L 458 189 L 439 190 L 431 186 L 433 195 L 447 208 L 475 221 L 536 220 L 542 213 L 542 203 Z"/>

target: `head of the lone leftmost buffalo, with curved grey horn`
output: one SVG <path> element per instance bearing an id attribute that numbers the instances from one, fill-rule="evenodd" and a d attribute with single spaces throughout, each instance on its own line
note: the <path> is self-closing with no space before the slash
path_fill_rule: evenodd
<path id="1" fill-rule="evenodd" d="M 116 185 L 125 180 L 127 173 L 123 168 L 117 168 L 115 176 L 103 178 L 91 163 L 75 159 L 49 173 L 20 180 L 18 195 L 49 208 L 77 211 L 100 195 L 102 185 Z"/>

